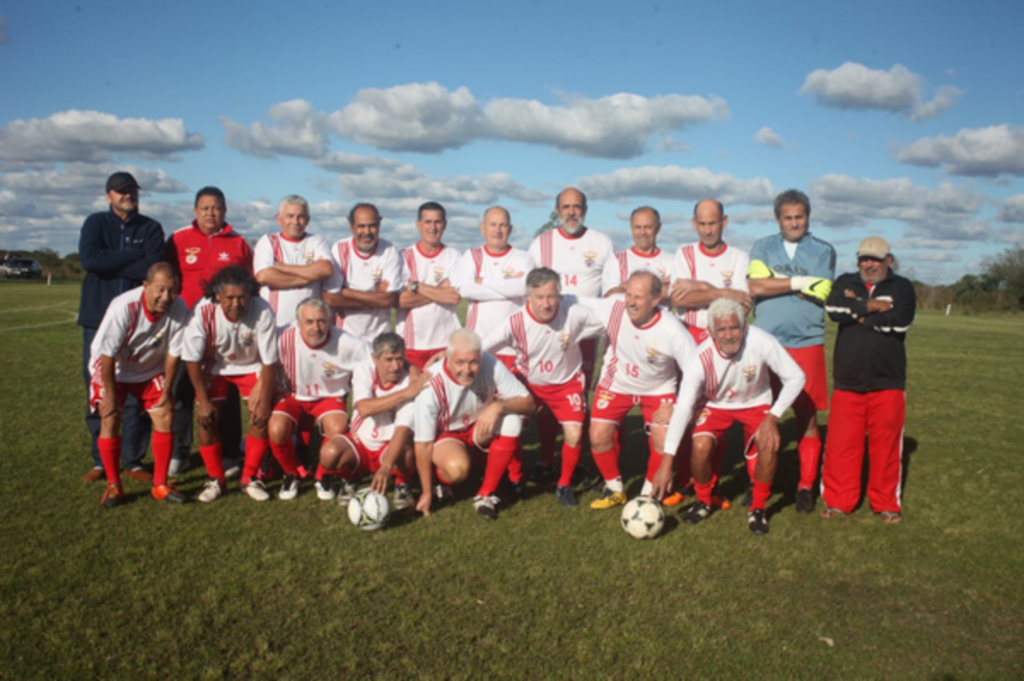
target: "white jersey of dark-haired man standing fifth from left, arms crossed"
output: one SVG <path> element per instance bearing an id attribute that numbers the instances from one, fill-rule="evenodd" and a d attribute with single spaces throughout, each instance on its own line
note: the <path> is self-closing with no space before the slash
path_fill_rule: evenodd
<path id="1" fill-rule="evenodd" d="M 452 276 L 460 255 L 454 248 L 444 246 L 433 255 L 424 255 L 420 245 L 416 244 L 403 250 L 401 258 L 408 282 L 437 286 L 447 280 L 450 285 L 455 286 Z M 410 350 L 434 350 L 446 346 L 452 332 L 460 326 L 456 305 L 430 302 L 422 307 L 398 310 L 395 332 L 404 339 Z"/>

